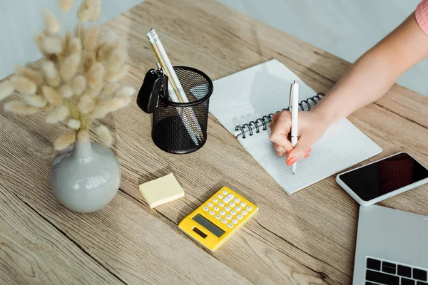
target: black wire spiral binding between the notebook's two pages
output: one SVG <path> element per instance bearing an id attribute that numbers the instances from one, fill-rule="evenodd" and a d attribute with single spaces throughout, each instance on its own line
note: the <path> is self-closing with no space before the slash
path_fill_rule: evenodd
<path id="1" fill-rule="evenodd" d="M 300 109 L 302 111 L 308 111 L 312 109 L 315 105 L 317 105 L 317 103 L 320 102 L 320 100 L 324 96 L 325 96 L 324 93 L 317 93 L 317 95 L 311 98 L 307 98 L 306 100 L 300 101 L 299 103 Z M 277 111 L 276 113 L 280 113 L 285 110 L 290 110 L 290 107 Z M 248 133 L 248 135 L 250 136 L 253 135 L 254 129 L 255 129 L 255 133 L 260 133 L 260 128 L 262 128 L 262 130 L 267 130 L 267 126 L 268 126 L 267 123 L 272 122 L 272 116 L 273 116 L 273 113 L 269 115 L 264 115 L 262 118 L 258 118 L 257 120 L 252 120 L 250 121 L 250 123 L 237 125 L 235 128 L 235 137 L 238 138 L 238 136 L 242 135 L 243 138 L 247 138 L 245 134 Z"/>

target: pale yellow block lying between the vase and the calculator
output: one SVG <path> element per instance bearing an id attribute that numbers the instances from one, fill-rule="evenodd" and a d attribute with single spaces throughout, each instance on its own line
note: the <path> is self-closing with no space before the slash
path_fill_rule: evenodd
<path id="1" fill-rule="evenodd" d="M 183 188 L 172 173 L 140 185 L 140 191 L 151 208 L 184 197 Z"/>

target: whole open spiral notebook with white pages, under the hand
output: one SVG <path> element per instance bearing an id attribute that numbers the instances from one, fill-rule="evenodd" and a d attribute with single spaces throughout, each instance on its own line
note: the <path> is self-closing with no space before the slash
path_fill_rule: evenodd
<path id="1" fill-rule="evenodd" d="M 310 157 L 297 162 L 297 172 L 278 157 L 270 142 L 272 113 L 288 107 L 290 83 L 299 81 L 300 108 L 322 100 L 292 71 L 273 59 L 214 82 L 210 113 L 245 147 L 285 192 L 292 194 L 377 155 L 382 149 L 343 119 L 312 145 Z"/>

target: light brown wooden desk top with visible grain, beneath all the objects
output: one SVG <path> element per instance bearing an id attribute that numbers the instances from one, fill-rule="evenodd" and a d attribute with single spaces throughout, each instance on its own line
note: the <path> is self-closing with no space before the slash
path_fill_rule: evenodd
<path id="1" fill-rule="evenodd" d="M 149 0 L 104 25 L 128 39 L 139 88 L 155 58 L 145 33 L 156 27 L 171 61 L 213 80 L 277 58 L 318 92 L 327 92 L 350 63 L 215 1 Z M 350 116 L 383 152 L 408 151 L 428 165 L 428 98 L 401 86 Z M 329 177 L 287 195 L 212 116 L 208 142 L 190 155 L 170 155 L 151 141 L 151 119 L 135 103 L 103 123 L 114 130 L 121 189 L 108 207 L 77 214 L 49 188 L 54 138 L 63 128 L 41 115 L 0 111 L 1 284 L 349 284 L 357 203 Z M 411 138 L 411 139 L 409 139 Z M 334 159 L 334 157 L 332 157 Z M 365 162 L 367 163 L 367 161 Z M 150 209 L 142 182 L 173 172 L 185 190 Z M 215 254 L 177 224 L 223 185 L 260 212 Z M 381 204 L 428 215 L 428 185 Z"/>

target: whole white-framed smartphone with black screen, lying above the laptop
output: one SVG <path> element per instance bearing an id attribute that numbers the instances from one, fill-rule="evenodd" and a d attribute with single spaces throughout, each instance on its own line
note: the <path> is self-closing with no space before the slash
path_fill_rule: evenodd
<path id="1" fill-rule="evenodd" d="M 336 176 L 362 206 L 380 202 L 428 182 L 428 169 L 407 152 L 382 158 Z"/>

